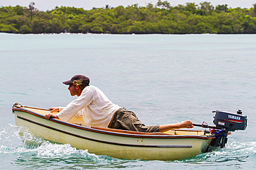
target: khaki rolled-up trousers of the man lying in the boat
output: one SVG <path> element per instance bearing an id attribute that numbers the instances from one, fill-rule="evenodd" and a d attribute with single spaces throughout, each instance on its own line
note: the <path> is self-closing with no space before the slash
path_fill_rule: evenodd
<path id="1" fill-rule="evenodd" d="M 122 129 L 140 132 L 159 132 L 159 125 L 146 126 L 138 120 L 134 112 L 120 108 L 113 115 L 112 129 Z"/>

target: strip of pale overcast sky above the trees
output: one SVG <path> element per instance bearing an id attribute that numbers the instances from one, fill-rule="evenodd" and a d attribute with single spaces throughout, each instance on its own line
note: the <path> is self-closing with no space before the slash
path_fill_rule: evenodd
<path id="1" fill-rule="evenodd" d="M 169 0 L 168 2 L 171 6 L 177 6 L 178 4 L 185 5 L 187 2 L 199 5 L 203 1 L 204 0 Z M 111 7 L 127 7 L 135 3 L 138 3 L 138 6 L 146 6 L 147 3 L 153 3 L 153 5 L 155 5 L 158 0 L 0 0 L 0 7 L 17 5 L 27 7 L 30 2 L 35 2 L 35 8 L 38 10 L 46 11 L 53 10 L 55 6 L 70 6 L 75 8 L 84 8 L 84 10 L 91 10 L 93 7 L 102 8 L 106 5 Z M 252 8 L 253 4 L 256 3 L 256 0 L 208 0 L 208 2 L 213 6 L 227 4 L 229 8 Z"/>

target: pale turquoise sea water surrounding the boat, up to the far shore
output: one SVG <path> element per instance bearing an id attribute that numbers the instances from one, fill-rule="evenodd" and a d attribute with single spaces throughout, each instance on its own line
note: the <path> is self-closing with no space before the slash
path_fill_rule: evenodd
<path id="1" fill-rule="evenodd" d="M 241 109 L 248 127 L 224 149 L 147 161 L 95 155 L 15 125 L 15 102 L 47 109 L 75 99 L 62 84 L 75 74 L 146 125 L 213 125 L 212 111 Z M 0 169 L 255 169 L 255 115 L 256 34 L 0 34 Z"/>

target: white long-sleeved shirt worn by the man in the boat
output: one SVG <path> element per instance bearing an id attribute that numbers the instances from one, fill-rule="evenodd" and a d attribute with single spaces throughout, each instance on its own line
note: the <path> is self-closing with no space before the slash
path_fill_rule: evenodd
<path id="1" fill-rule="evenodd" d="M 113 104 L 104 93 L 93 85 L 85 87 L 82 94 L 66 107 L 59 107 L 57 116 L 61 120 L 71 120 L 73 116 L 83 116 L 84 123 L 95 127 L 107 127 L 118 105 Z"/>

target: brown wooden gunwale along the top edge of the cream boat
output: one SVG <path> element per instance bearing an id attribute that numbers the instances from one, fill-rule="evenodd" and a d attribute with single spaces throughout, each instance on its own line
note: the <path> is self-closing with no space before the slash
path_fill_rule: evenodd
<path id="1" fill-rule="evenodd" d="M 30 109 L 39 109 L 39 108 L 35 108 L 35 107 L 28 107 L 28 108 L 30 108 Z M 48 109 L 42 109 L 42 110 L 49 111 Z M 13 113 L 14 113 L 14 111 L 24 111 L 28 114 L 32 114 L 32 115 L 37 116 L 39 118 L 44 118 L 44 116 L 42 114 L 38 114 L 34 111 L 30 111 L 29 109 L 26 109 L 24 107 L 12 107 L 12 111 L 13 111 Z M 22 119 L 24 119 L 24 118 L 22 118 Z M 50 118 L 48 121 L 52 121 L 54 123 L 58 123 L 58 124 L 61 124 L 61 125 L 66 125 L 68 127 L 73 127 L 73 128 L 76 128 L 76 129 L 82 129 L 82 130 L 85 130 L 85 131 L 92 131 L 92 132 L 100 133 L 100 134 L 108 134 L 108 135 L 113 135 L 113 136 L 124 136 L 124 137 L 132 137 L 132 138 L 200 138 L 200 139 L 205 139 L 205 140 L 216 138 L 215 134 L 212 134 L 212 135 L 209 135 L 209 136 L 172 135 L 172 134 L 164 134 L 164 133 L 161 133 L 161 132 L 145 133 L 145 132 L 127 131 L 127 130 L 120 130 L 120 129 L 110 129 L 110 128 L 104 128 L 104 127 L 83 127 L 81 125 L 75 125 L 74 123 L 68 123 L 66 121 L 63 121 L 63 120 L 60 120 L 60 119 L 57 119 L 57 118 Z M 180 131 L 191 131 L 191 130 L 180 130 Z"/>

